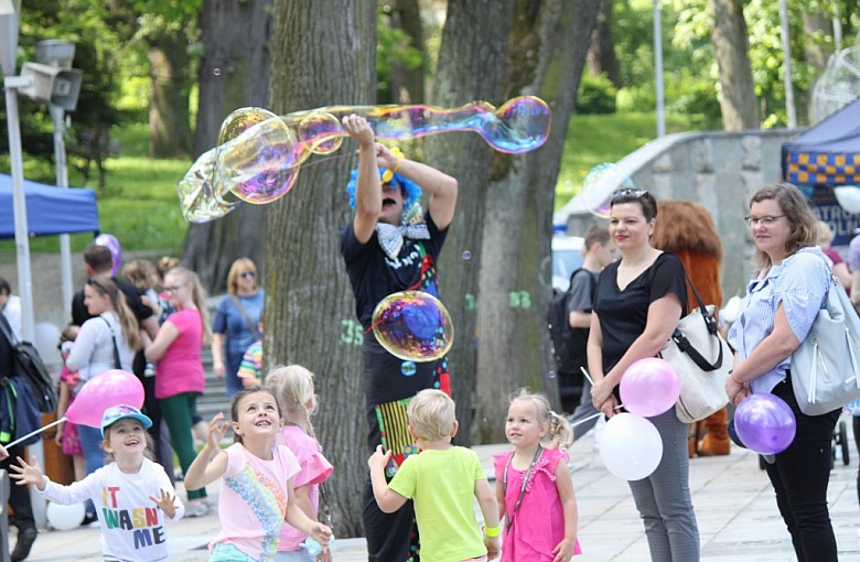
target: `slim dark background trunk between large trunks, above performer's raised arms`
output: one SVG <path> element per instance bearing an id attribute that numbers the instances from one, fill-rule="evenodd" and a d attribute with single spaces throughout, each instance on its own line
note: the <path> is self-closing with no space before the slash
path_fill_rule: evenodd
<path id="1" fill-rule="evenodd" d="M 405 68 L 397 61 L 391 63 L 393 104 L 423 104 L 427 54 L 420 7 L 418 0 L 396 0 L 393 4 L 391 26 L 402 30 L 411 37 L 412 46 L 421 52 L 422 57 L 421 64 L 416 68 Z"/>

